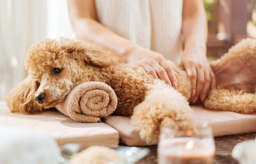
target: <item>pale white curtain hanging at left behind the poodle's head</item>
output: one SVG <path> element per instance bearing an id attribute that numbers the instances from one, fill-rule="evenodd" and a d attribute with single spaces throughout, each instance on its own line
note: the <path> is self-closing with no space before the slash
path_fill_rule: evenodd
<path id="1" fill-rule="evenodd" d="M 0 1 L 0 100 L 26 77 L 24 56 L 46 38 L 46 1 Z"/>

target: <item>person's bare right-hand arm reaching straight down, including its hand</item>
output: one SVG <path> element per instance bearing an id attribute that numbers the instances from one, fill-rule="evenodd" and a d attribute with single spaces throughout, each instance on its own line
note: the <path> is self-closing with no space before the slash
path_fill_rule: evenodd
<path id="1" fill-rule="evenodd" d="M 184 52 L 181 65 L 187 71 L 192 85 L 192 99 L 204 101 L 208 90 L 216 87 L 213 71 L 206 60 L 208 27 L 203 0 L 184 0 L 182 33 Z"/>

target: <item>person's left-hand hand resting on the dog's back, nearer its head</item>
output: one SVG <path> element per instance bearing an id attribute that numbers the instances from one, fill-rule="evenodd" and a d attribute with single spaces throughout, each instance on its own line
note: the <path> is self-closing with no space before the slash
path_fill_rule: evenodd
<path id="1" fill-rule="evenodd" d="M 173 68 L 161 54 L 151 50 L 138 48 L 136 50 L 131 50 L 128 56 L 128 63 L 140 66 L 155 79 L 163 79 L 167 85 L 174 88 L 178 87 L 176 72 L 173 71 Z"/>

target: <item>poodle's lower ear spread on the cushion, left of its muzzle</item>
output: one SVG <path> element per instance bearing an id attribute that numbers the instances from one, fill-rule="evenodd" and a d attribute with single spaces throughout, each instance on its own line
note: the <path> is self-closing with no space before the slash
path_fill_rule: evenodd
<path id="1" fill-rule="evenodd" d="M 34 100 L 34 93 L 37 92 L 39 82 L 31 77 L 26 77 L 10 92 L 7 97 L 7 106 L 11 112 L 21 112 L 25 114 L 34 114 L 42 112 L 43 106 L 37 104 Z"/>

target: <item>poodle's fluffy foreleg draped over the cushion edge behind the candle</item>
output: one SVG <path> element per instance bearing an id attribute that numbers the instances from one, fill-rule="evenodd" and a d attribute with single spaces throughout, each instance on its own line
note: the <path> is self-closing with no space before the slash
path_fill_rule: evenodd
<path id="1" fill-rule="evenodd" d="M 154 144 L 162 122 L 192 122 L 193 116 L 187 99 L 173 87 L 160 80 L 155 80 L 154 85 L 148 87 L 151 90 L 145 100 L 135 107 L 131 121 L 140 130 L 140 138 L 147 144 Z"/>

